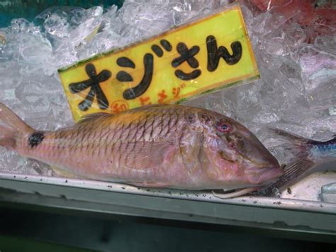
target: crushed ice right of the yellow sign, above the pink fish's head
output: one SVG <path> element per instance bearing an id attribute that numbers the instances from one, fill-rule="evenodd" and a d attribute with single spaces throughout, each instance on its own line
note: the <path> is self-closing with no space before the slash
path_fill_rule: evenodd
<path id="1" fill-rule="evenodd" d="M 242 11 L 262 78 L 188 104 L 206 104 L 237 119 L 286 163 L 293 156 L 267 128 L 320 141 L 336 132 L 336 28 L 308 44 L 298 23 L 245 5 Z"/>

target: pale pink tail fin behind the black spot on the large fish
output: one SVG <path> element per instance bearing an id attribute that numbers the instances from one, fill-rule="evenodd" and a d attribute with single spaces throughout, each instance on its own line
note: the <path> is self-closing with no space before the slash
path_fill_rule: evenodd
<path id="1" fill-rule="evenodd" d="M 0 103 L 0 146 L 13 150 L 16 148 L 18 139 L 30 132 L 33 132 L 33 128 Z"/>

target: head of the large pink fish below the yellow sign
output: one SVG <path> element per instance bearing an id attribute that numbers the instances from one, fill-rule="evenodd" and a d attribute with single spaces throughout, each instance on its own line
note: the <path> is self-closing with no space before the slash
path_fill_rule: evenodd
<path id="1" fill-rule="evenodd" d="M 276 158 L 242 124 L 220 114 L 203 124 L 203 153 L 208 160 L 208 174 L 215 180 L 264 185 L 283 174 Z"/>

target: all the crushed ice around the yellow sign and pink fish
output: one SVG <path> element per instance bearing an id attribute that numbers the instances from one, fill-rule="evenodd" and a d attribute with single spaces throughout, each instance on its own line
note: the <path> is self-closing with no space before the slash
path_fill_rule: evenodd
<path id="1" fill-rule="evenodd" d="M 222 5 L 227 1 L 221 1 Z M 1 28 L 0 101 L 40 130 L 72 124 L 57 68 L 118 48 L 218 8 L 219 1 L 125 1 L 103 10 L 53 7 L 30 23 Z M 308 28 L 242 6 L 262 79 L 186 104 L 237 119 L 257 134 L 280 162 L 293 155 L 266 131 L 281 128 L 324 140 L 336 131 L 335 28 L 307 44 Z M 306 30 L 305 30 L 306 29 Z M 98 33 L 92 35 L 94 31 Z M 4 42 L 3 37 L 6 38 Z M 50 175 L 46 165 L 0 149 L 1 171 Z"/>

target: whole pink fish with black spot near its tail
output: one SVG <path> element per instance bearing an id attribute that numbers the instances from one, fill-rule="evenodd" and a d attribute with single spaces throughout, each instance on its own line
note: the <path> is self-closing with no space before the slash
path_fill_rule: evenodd
<path id="1" fill-rule="evenodd" d="M 153 105 L 91 114 L 72 127 L 36 131 L 0 104 L 0 145 L 60 175 L 186 190 L 254 188 L 283 174 L 237 121 L 206 109 Z M 245 189 L 242 192 L 250 192 Z"/>

